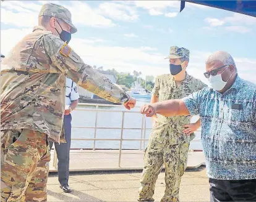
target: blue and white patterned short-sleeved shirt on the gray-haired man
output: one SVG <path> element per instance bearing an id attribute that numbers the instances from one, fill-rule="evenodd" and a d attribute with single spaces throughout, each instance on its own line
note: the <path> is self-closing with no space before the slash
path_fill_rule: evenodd
<path id="1" fill-rule="evenodd" d="M 256 179 L 256 85 L 237 76 L 224 94 L 204 88 L 184 102 L 201 118 L 208 177 Z"/>

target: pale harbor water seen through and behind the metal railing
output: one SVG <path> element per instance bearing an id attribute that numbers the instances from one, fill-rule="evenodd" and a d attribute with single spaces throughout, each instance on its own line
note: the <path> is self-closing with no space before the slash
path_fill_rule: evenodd
<path id="1" fill-rule="evenodd" d="M 150 99 L 137 100 L 137 106 L 142 106 L 144 103 L 149 103 Z M 78 106 L 77 108 L 95 108 L 93 106 Z M 124 107 L 99 107 L 100 109 L 109 110 L 123 110 Z M 139 108 L 134 108 L 132 111 L 139 111 Z M 72 126 L 95 126 L 96 111 L 72 111 Z M 151 120 L 147 119 L 147 128 L 151 128 Z M 192 118 L 192 122 L 195 122 L 197 118 Z M 122 126 L 122 113 L 119 112 L 98 112 L 98 127 L 121 127 Z M 124 127 L 138 127 L 142 126 L 142 115 L 139 113 L 125 113 L 124 115 Z M 151 130 L 146 131 L 146 139 L 148 139 Z M 72 138 L 93 138 L 95 129 L 84 128 L 72 128 Z M 121 129 L 97 129 L 96 138 L 120 138 Z M 124 139 L 140 139 L 141 130 L 124 130 Z M 143 137 L 142 137 L 143 138 Z M 196 133 L 195 139 L 200 139 L 200 133 Z M 93 148 L 93 140 L 72 140 L 71 148 Z M 145 141 L 145 147 L 147 147 L 147 141 Z M 95 148 L 119 148 L 119 141 L 96 141 Z M 122 148 L 124 149 L 139 149 L 140 141 L 123 141 Z M 142 142 L 143 148 L 143 142 Z M 190 148 L 202 149 L 200 142 L 190 143 Z"/>

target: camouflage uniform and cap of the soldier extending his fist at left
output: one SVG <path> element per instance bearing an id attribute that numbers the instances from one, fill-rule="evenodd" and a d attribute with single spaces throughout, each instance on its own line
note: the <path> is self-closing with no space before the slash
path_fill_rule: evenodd
<path id="1" fill-rule="evenodd" d="M 46 4 L 40 15 L 70 12 Z M 60 142 L 66 76 L 106 100 L 124 103 L 121 87 L 86 65 L 59 36 L 36 26 L 1 62 L 1 201 L 46 201 L 49 140 Z"/>

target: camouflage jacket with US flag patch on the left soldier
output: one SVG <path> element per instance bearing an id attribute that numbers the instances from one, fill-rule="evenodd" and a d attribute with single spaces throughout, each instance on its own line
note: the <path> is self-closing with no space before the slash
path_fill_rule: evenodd
<path id="1" fill-rule="evenodd" d="M 66 76 L 110 102 L 129 95 L 85 64 L 59 36 L 36 26 L 1 62 L 1 130 L 30 129 L 60 142 Z"/>

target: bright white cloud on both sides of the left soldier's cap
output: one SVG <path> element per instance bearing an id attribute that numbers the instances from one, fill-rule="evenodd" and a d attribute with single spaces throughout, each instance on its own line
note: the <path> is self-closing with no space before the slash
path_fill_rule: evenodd
<path id="1" fill-rule="evenodd" d="M 40 2 L 41 3 L 41 2 Z M 72 22 L 74 25 L 85 25 L 97 28 L 116 26 L 112 20 L 97 14 L 85 2 L 71 1 L 71 6 L 67 7 L 72 13 Z M 38 14 L 41 10 L 41 4 L 34 4 L 22 1 L 4 1 L 1 2 L 1 22 L 11 24 L 22 28 L 33 27 L 38 24 Z"/>

